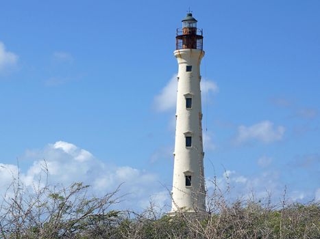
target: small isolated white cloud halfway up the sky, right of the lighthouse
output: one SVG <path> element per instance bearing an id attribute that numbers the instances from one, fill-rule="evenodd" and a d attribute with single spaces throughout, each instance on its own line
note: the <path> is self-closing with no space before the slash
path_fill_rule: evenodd
<path id="1" fill-rule="evenodd" d="M 260 140 L 264 143 L 280 141 L 284 136 L 284 131 L 284 126 L 275 128 L 272 122 L 265 120 L 253 126 L 239 126 L 236 142 L 243 143 L 252 139 Z"/>

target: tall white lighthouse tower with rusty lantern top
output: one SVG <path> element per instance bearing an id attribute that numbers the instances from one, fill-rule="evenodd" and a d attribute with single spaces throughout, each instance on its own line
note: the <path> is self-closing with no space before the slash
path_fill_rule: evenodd
<path id="1" fill-rule="evenodd" d="M 179 71 L 171 212 L 206 210 L 200 91 L 203 38 L 197 20 L 186 14 L 175 38 Z"/>

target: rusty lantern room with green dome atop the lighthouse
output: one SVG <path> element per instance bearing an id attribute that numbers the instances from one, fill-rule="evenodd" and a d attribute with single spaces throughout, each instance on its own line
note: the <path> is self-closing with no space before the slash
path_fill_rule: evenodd
<path id="1" fill-rule="evenodd" d="M 197 20 L 192 13 L 186 14 L 182 20 L 182 28 L 177 29 L 175 37 L 175 49 L 199 49 L 203 47 L 202 29 L 197 29 Z"/>

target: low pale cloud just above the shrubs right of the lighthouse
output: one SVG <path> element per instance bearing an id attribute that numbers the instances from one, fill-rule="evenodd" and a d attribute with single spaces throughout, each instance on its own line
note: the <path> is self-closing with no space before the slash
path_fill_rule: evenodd
<path id="1" fill-rule="evenodd" d="M 220 176 L 206 179 L 208 195 L 219 192 L 228 201 L 236 199 L 256 199 L 267 201 L 270 199 L 275 205 L 283 200 L 284 193 L 286 201 L 320 201 L 320 188 L 316 191 L 297 190 L 294 186 L 286 186 L 281 182 L 281 171 L 262 171 L 254 175 L 241 175 L 234 170 L 225 170 Z M 217 188 L 218 187 L 218 188 Z"/>

